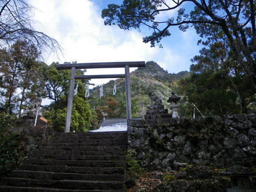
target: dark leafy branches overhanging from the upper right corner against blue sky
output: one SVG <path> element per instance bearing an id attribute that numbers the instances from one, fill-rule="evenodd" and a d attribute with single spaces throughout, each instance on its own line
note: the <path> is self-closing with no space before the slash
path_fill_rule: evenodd
<path id="1" fill-rule="evenodd" d="M 186 12 L 183 8 L 185 4 L 194 5 L 194 10 Z M 216 34 L 221 34 L 230 44 L 237 65 L 241 66 L 256 88 L 255 7 L 253 0 L 173 0 L 171 3 L 165 0 L 124 0 L 121 5 L 109 4 L 108 9 L 102 10 L 102 18 L 105 18 L 105 25 L 117 24 L 124 30 L 149 27 L 152 35 L 144 37 L 143 41 L 151 42 L 151 46 L 171 35 L 169 28 L 172 26 L 179 26 L 182 31 L 190 25 L 194 26 L 202 38 L 214 38 Z M 171 10 L 177 10 L 176 18 L 158 20 L 162 19 L 157 17 L 158 14 Z"/>

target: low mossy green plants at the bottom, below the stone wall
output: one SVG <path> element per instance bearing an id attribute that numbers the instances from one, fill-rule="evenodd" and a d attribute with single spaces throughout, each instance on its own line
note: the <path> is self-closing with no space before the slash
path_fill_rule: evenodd
<path id="1" fill-rule="evenodd" d="M 176 178 L 176 174 L 179 177 Z M 176 172 L 166 172 L 161 180 L 155 191 L 224 191 L 230 188 L 230 177 L 220 176 L 218 169 L 211 166 L 187 165 Z"/>

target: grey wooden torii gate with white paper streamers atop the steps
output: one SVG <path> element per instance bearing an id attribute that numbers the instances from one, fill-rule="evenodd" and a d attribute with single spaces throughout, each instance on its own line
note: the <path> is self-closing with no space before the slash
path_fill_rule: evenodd
<path id="1" fill-rule="evenodd" d="M 68 106 L 66 110 L 65 133 L 69 133 L 71 123 L 71 112 L 74 97 L 75 79 L 101 79 L 101 78 L 126 78 L 126 119 L 132 118 L 130 100 L 130 67 L 144 67 L 145 62 L 106 62 L 106 63 L 73 63 L 57 64 L 56 68 L 71 69 L 68 93 Z M 91 76 L 76 76 L 76 69 L 97 69 L 97 68 L 125 68 L 125 74 L 105 74 Z"/>

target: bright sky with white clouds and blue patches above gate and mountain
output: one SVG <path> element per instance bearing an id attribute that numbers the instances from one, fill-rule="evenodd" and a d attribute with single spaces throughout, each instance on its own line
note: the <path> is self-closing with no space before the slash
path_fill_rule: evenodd
<path id="1" fill-rule="evenodd" d="M 193 28 L 182 32 L 171 28 L 171 36 L 163 38 L 163 48 L 151 48 L 142 38 L 151 34 L 147 27 L 122 30 L 117 26 L 105 26 L 102 9 L 108 4 L 121 4 L 113 0 L 29 0 L 35 10 L 35 29 L 55 38 L 63 48 L 59 58 L 45 55 L 45 62 L 157 62 L 168 73 L 189 71 L 190 59 L 197 55 L 199 35 Z M 171 1 L 170 1 L 171 2 Z M 192 7 L 189 7 L 192 8 Z M 175 15 L 166 12 L 158 18 Z M 131 68 L 130 71 L 133 71 Z M 86 74 L 123 74 L 124 69 L 88 69 Z M 91 83 L 105 84 L 110 79 L 93 79 Z"/>

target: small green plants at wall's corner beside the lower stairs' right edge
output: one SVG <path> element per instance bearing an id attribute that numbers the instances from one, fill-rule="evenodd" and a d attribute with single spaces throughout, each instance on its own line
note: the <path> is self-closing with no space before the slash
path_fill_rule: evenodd
<path id="1" fill-rule="evenodd" d="M 127 172 L 126 172 L 126 186 L 127 188 L 133 187 L 138 177 L 143 174 L 144 169 L 138 163 L 134 156 L 134 151 L 128 150 L 126 155 Z"/>

